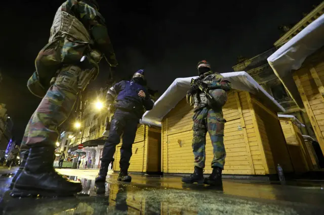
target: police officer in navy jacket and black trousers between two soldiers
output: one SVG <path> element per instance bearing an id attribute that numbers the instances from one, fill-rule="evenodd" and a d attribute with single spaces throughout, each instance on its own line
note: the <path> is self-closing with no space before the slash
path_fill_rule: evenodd
<path id="1" fill-rule="evenodd" d="M 113 160 L 121 134 L 123 134 L 123 145 L 120 148 L 120 173 L 117 180 L 132 181 L 131 176 L 128 175 L 128 168 L 137 125 L 144 114 L 144 108 L 149 111 L 154 106 L 154 101 L 150 99 L 145 83 L 144 70 L 139 70 L 133 75 L 131 81 L 120 81 L 107 92 L 108 109 L 110 111 L 113 109 L 115 112 L 110 122 L 109 135 L 103 148 L 100 171 L 96 177 L 96 182 L 106 180 L 108 166 Z"/>

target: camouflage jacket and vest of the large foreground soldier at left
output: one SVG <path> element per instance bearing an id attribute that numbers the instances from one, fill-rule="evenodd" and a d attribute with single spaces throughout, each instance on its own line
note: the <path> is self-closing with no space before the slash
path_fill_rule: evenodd
<path id="1" fill-rule="evenodd" d="M 36 72 L 28 80 L 29 90 L 43 97 L 62 65 L 77 65 L 83 56 L 88 57 L 84 65 L 95 68 L 93 78 L 99 72 L 102 56 L 111 67 L 118 65 L 101 14 L 84 2 L 67 0 L 55 14 L 49 43 L 35 59 Z M 35 83 L 37 93 L 32 90 Z"/>

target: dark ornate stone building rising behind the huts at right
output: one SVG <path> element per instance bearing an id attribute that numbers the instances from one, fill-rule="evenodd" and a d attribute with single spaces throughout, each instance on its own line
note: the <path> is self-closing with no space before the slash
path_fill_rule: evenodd
<path id="1" fill-rule="evenodd" d="M 238 63 L 232 67 L 235 72 L 246 71 L 249 73 L 249 75 L 251 75 L 263 87 L 263 89 L 265 89 L 272 97 L 274 97 L 275 100 L 279 102 L 281 106 L 285 108 L 286 112 L 282 114 L 295 116 L 301 123 L 305 125 L 305 128 L 301 128 L 302 133 L 313 138 L 315 138 L 315 134 L 307 114 L 303 112 L 303 110 L 300 110 L 290 97 L 284 85 L 282 85 L 280 80 L 273 73 L 267 62 L 267 58 L 323 13 L 324 2 L 318 5 L 292 28 L 285 26 L 285 28 L 283 28 L 285 34 L 274 42 L 274 47 L 250 59 L 238 57 Z"/>

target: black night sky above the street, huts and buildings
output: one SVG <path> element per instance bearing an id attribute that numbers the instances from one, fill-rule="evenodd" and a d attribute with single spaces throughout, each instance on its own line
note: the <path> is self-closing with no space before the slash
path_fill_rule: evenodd
<path id="1" fill-rule="evenodd" d="M 26 83 L 63 2 L 2 1 L 0 103 L 7 104 L 18 141 L 41 101 Z M 98 0 L 120 65 L 119 78 L 144 68 L 148 86 L 160 94 L 174 79 L 196 75 L 200 60 L 208 60 L 214 71 L 233 71 L 237 56 L 251 58 L 272 47 L 282 33 L 278 26 L 297 23 L 320 2 Z M 104 86 L 107 77 L 103 60 L 89 89 Z"/>

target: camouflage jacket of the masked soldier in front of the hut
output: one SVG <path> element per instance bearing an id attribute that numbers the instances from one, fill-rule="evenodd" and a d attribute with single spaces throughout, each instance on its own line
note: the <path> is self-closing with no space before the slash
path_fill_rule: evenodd
<path id="1" fill-rule="evenodd" d="M 200 75 L 199 79 L 203 80 L 204 83 L 207 83 L 209 89 L 223 89 L 225 91 L 231 89 L 231 83 L 217 72 L 213 73 L 212 71 L 209 71 Z M 186 100 L 187 103 L 194 108 L 194 111 L 207 106 L 206 93 L 199 90 L 192 93 L 192 89 L 190 89 L 187 92 Z"/>

